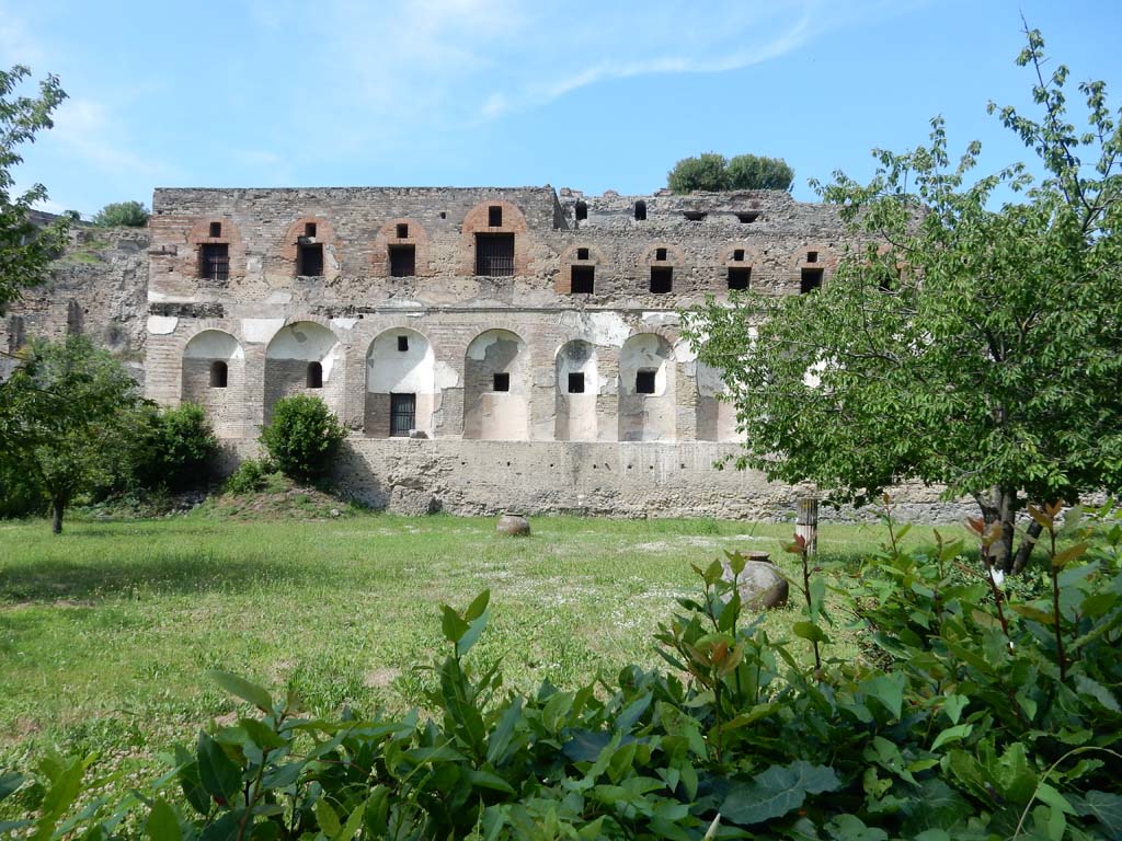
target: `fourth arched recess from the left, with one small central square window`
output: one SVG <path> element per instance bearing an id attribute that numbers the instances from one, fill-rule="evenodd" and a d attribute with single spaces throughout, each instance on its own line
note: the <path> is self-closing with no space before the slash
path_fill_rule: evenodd
<path id="1" fill-rule="evenodd" d="M 530 437 L 530 351 L 522 336 L 488 330 L 463 359 L 463 437 Z"/>

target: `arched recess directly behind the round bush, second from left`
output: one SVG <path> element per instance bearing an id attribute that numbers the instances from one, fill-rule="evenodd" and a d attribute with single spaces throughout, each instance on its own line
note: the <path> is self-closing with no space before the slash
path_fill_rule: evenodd
<path id="1" fill-rule="evenodd" d="M 277 331 L 265 349 L 265 423 L 282 397 L 312 395 L 342 416 L 343 348 L 328 327 L 298 321 Z"/>

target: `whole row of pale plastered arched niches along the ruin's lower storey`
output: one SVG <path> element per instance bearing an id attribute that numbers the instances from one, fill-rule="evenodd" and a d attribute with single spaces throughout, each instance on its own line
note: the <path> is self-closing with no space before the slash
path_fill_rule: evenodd
<path id="1" fill-rule="evenodd" d="M 278 399 L 294 394 L 316 395 L 342 417 L 344 355 L 335 334 L 315 322 L 279 330 L 265 351 L 264 419 Z M 542 432 L 549 422 L 544 413 L 546 419 L 539 418 L 532 434 L 531 406 L 544 396 L 540 383 L 534 387 L 522 336 L 484 331 L 468 345 L 462 371 L 456 371 L 436 360 L 424 334 L 392 327 L 367 350 L 364 429 L 373 437 L 432 437 L 439 434 L 438 413 L 457 408 L 442 395 L 462 388 L 465 438 L 523 441 L 550 433 L 558 441 L 736 438 L 733 407 L 717 398 L 719 377 L 700 364 L 689 371 L 695 377 L 683 373 L 663 336 L 635 334 L 611 357 L 601 360 L 597 346 L 583 340 L 558 348 L 552 429 Z M 246 405 L 247 385 L 246 354 L 233 335 L 205 330 L 187 342 L 181 397 L 203 406 L 220 434 L 243 420 L 238 413 Z"/>

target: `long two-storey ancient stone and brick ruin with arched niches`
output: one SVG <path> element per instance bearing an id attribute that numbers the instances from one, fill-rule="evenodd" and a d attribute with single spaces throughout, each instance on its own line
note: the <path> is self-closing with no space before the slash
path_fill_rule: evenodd
<path id="1" fill-rule="evenodd" d="M 798 491 L 715 466 L 741 434 L 679 309 L 810 293 L 848 244 L 770 191 L 157 190 L 147 231 L 80 229 L 0 346 L 94 335 L 148 397 L 205 407 L 230 464 L 316 395 L 377 507 L 766 518 Z"/>

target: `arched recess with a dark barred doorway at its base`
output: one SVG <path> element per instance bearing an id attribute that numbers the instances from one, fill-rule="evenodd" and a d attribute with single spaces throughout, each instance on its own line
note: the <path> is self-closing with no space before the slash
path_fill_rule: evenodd
<path id="1" fill-rule="evenodd" d="M 364 429 L 369 437 L 432 437 L 436 409 L 436 366 L 432 345 L 408 327 L 390 327 L 366 354 Z"/>

